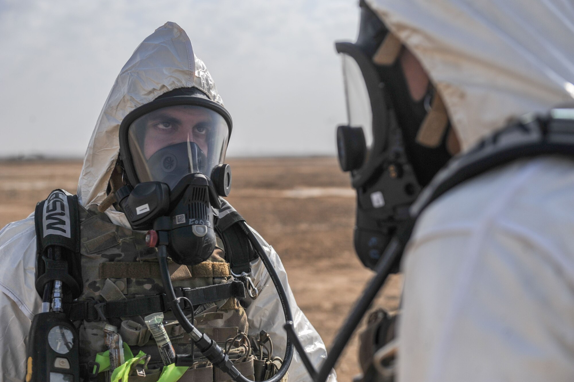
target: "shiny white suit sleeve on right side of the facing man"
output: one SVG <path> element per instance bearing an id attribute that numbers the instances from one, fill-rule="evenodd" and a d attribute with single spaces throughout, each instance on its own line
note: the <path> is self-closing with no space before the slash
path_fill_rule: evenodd
<path id="1" fill-rule="evenodd" d="M 269 256 L 273 267 L 281 279 L 281 283 L 285 287 L 293 313 L 293 322 L 297 336 L 307 351 L 311 362 L 313 362 L 315 368 L 318 368 L 327 357 L 325 344 L 323 340 L 321 340 L 317 330 L 313 328 L 311 322 L 309 322 L 305 314 L 297 306 L 297 302 L 295 301 L 287 280 L 287 273 L 277 252 L 273 250 L 273 247 L 265 243 L 257 233 L 256 236 L 263 245 L 263 248 L 265 248 L 267 256 Z M 259 290 L 259 296 L 251 302 L 246 310 L 247 319 L 249 321 L 249 334 L 257 338 L 259 332 L 265 330 L 265 332 L 269 333 L 273 341 L 273 356 L 283 358 L 285 355 L 285 341 L 287 337 L 285 329 L 283 328 L 283 325 L 285 325 L 285 316 L 273 281 L 261 262 L 261 259 L 251 262 L 251 278 L 255 283 L 255 287 Z M 293 361 L 289 367 L 289 382 L 311 381 L 311 377 L 307 373 L 307 369 L 305 369 L 297 351 L 293 349 L 293 352 Z M 329 376 L 328 381 L 336 382 L 334 371 Z"/>

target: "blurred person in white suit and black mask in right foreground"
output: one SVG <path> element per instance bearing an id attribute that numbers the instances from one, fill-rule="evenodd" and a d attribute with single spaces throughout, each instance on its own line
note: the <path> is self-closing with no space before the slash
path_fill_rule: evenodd
<path id="1" fill-rule="evenodd" d="M 337 44 L 350 118 L 339 156 L 363 263 L 409 232 L 398 380 L 571 381 L 574 7 L 360 6 L 357 41 Z"/>

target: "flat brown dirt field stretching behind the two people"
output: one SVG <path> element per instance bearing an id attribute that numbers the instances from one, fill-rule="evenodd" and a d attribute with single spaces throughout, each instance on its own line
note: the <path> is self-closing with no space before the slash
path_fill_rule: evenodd
<path id="1" fill-rule="evenodd" d="M 228 201 L 273 245 L 298 305 L 330 344 L 371 276 L 354 254 L 355 199 L 335 158 L 230 159 Z M 80 161 L 0 162 L 0 227 L 34 211 L 55 188 L 75 193 Z M 393 309 L 400 280 L 379 303 Z M 336 368 L 340 381 L 359 372 L 356 340 Z"/>

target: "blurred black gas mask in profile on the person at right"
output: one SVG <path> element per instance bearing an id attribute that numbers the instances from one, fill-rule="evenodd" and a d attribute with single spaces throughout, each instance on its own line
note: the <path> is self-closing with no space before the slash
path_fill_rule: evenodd
<path id="1" fill-rule="evenodd" d="M 422 99 L 413 100 L 399 59 L 405 48 L 364 1 L 359 5 L 357 41 L 335 44 L 348 115 L 337 129 L 337 147 L 357 192 L 355 250 L 373 269 L 421 188 L 451 158 L 450 126 L 430 82 Z"/>

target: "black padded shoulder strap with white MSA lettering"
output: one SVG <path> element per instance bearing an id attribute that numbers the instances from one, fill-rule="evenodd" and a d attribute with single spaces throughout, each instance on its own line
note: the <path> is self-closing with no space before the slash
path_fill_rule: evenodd
<path id="1" fill-rule="evenodd" d="M 82 294 L 80 266 L 80 219 L 77 196 L 64 190 L 53 190 L 46 200 L 38 202 L 34 214 L 36 225 L 36 291 L 40 296 L 44 286 L 61 280 L 72 298 Z M 57 251 L 51 251 L 52 248 Z"/>

